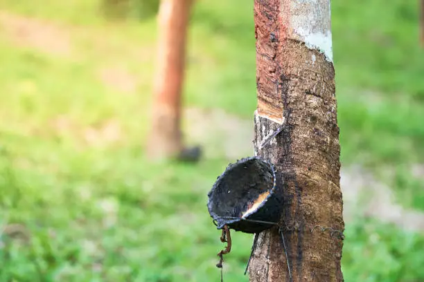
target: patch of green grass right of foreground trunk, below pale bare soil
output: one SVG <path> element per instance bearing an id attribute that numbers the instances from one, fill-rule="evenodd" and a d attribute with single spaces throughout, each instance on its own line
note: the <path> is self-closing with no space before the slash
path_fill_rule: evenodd
<path id="1" fill-rule="evenodd" d="M 424 237 L 360 218 L 346 229 L 342 271 L 346 281 L 421 281 Z"/>

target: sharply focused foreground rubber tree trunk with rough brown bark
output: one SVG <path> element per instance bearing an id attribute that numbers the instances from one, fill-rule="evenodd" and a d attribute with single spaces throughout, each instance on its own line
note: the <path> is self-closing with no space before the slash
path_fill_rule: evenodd
<path id="1" fill-rule="evenodd" d="M 279 230 L 273 228 L 258 235 L 250 281 L 343 281 L 330 1 L 255 0 L 254 18 L 255 153 L 278 171 L 285 197 L 280 225 L 292 279 Z M 261 148 L 280 126 L 283 131 Z"/>

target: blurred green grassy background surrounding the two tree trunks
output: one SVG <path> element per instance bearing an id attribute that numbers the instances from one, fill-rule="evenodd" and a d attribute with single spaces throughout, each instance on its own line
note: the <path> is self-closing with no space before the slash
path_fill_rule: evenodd
<path id="1" fill-rule="evenodd" d="M 424 281 L 416 2 L 332 1 L 346 281 Z M 157 28 L 154 5 L 128 3 L 0 2 L 0 281 L 219 281 L 206 193 L 253 153 L 253 1 L 195 3 L 198 164 L 145 159 Z M 224 281 L 248 281 L 251 242 L 233 233 Z"/>

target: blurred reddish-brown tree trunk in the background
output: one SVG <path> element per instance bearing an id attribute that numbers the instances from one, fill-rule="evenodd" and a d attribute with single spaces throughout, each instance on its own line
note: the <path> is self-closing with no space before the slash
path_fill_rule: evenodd
<path id="1" fill-rule="evenodd" d="M 191 3 L 162 0 L 159 6 L 157 70 L 148 140 L 151 158 L 172 157 L 182 150 L 181 96 Z"/>

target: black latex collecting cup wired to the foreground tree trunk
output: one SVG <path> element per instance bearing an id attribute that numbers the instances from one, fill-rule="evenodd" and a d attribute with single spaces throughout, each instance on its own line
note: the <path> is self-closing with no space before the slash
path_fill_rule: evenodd
<path id="1" fill-rule="evenodd" d="M 270 162 L 258 157 L 229 164 L 208 194 L 209 214 L 218 229 L 228 225 L 245 233 L 259 233 L 276 225 L 282 199 Z"/>

